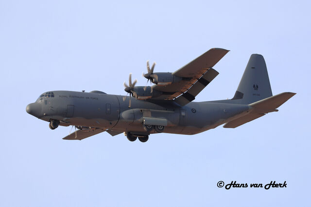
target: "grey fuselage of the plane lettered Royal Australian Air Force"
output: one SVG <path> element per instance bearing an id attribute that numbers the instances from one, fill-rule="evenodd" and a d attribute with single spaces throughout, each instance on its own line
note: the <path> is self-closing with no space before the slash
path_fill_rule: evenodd
<path id="1" fill-rule="evenodd" d="M 27 112 L 61 126 L 86 126 L 145 134 L 144 120 L 166 120 L 164 133 L 197 134 L 248 113 L 250 107 L 220 102 L 190 102 L 186 106 L 167 101 L 144 101 L 129 96 L 73 91 L 51 91 L 27 106 Z M 46 95 L 46 96 L 45 96 Z M 42 95 L 41 95 L 42 96 Z M 53 97 L 52 97 L 53 96 Z M 157 133 L 152 130 L 148 133 Z"/>

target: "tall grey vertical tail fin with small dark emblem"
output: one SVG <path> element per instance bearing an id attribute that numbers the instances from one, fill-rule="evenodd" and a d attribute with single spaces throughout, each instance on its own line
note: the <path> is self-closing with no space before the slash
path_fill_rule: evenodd
<path id="1" fill-rule="evenodd" d="M 272 91 L 266 63 L 262 55 L 252 54 L 232 100 L 250 104 L 270 96 Z"/>

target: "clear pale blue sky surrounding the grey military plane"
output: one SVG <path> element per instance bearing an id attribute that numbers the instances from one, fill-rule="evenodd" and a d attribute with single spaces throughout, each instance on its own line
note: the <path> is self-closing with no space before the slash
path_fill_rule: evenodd
<path id="1" fill-rule="evenodd" d="M 310 1 L 0 0 L 0 206 L 310 206 Z M 104 132 L 65 141 L 26 113 L 46 91 L 126 95 L 146 61 L 173 72 L 210 48 L 229 49 L 196 101 L 232 98 L 249 56 L 265 58 L 278 112 L 235 129 Z M 218 188 L 288 183 L 283 189 Z"/>

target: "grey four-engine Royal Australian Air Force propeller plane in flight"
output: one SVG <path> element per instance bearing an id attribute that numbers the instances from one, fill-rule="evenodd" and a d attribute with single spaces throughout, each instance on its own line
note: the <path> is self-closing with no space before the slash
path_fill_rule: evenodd
<path id="1" fill-rule="evenodd" d="M 146 142 L 150 134 L 197 134 L 224 125 L 239 127 L 277 108 L 295 93 L 272 96 L 267 67 L 262 55 L 252 54 L 231 99 L 194 102 L 219 73 L 213 69 L 229 50 L 212 48 L 173 73 L 154 72 L 155 63 L 143 76 L 152 86 L 124 82 L 129 96 L 101 91 L 86 93 L 50 91 L 39 96 L 26 111 L 49 122 L 51 129 L 74 126 L 64 140 L 82 140 L 101 132 L 121 134 L 131 142 Z"/>

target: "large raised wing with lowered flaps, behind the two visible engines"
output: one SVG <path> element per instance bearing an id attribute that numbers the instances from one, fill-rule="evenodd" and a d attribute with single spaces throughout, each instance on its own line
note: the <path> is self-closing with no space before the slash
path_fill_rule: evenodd
<path id="1" fill-rule="evenodd" d="M 183 80 L 166 86 L 152 86 L 153 89 L 163 92 L 162 96 L 152 99 L 174 100 L 181 106 L 188 104 L 219 74 L 212 67 L 228 51 L 222 48 L 212 48 L 189 64 L 176 70 L 173 75 L 181 77 Z"/>

